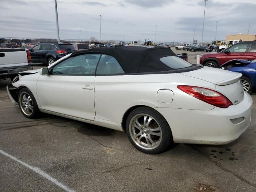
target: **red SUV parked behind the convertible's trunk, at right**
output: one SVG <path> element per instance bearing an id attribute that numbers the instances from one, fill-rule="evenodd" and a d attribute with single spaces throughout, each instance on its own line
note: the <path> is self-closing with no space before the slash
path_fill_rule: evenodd
<path id="1" fill-rule="evenodd" d="M 200 55 L 200 64 L 218 68 L 233 59 L 256 59 L 256 41 L 239 42 L 218 53 Z"/>

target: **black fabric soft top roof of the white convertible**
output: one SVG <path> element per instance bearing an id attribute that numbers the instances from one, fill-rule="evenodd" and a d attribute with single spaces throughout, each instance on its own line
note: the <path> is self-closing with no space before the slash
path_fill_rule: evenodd
<path id="1" fill-rule="evenodd" d="M 74 52 L 71 56 L 84 53 L 101 53 L 116 58 L 125 73 L 143 73 L 170 71 L 168 67 L 160 61 L 160 58 L 166 56 L 176 56 L 169 48 L 161 47 L 142 47 L 142 46 L 122 46 L 107 48 L 92 48 Z"/>

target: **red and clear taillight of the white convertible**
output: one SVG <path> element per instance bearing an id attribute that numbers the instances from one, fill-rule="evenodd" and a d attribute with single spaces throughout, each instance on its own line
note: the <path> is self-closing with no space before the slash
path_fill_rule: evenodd
<path id="1" fill-rule="evenodd" d="M 188 85 L 178 85 L 177 87 L 185 93 L 216 107 L 228 108 L 232 105 L 228 98 L 211 89 Z"/>

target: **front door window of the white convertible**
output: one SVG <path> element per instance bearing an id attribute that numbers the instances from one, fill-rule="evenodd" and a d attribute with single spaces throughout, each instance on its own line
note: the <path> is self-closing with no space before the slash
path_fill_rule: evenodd
<path id="1" fill-rule="evenodd" d="M 50 72 L 52 75 L 93 75 L 95 74 L 100 54 L 83 54 L 68 58 Z"/>

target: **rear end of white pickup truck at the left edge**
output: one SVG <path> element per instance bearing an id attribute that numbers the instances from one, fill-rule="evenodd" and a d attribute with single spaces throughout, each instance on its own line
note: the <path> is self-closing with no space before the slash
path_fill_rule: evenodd
<path id="1" fill-rule="evenodd" d="M 19 72 L 32 69 L 28 50 L 0 48 L 0 79 L 13 80 Z"/>

